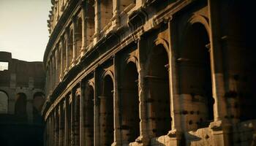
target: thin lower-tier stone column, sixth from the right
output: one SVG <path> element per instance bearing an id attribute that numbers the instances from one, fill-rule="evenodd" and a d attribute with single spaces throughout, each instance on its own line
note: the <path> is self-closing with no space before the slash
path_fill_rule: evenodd
<path id="1" fill-rule="evenodd" d="M 85 146 L 85 127 L 84 127 L 84 120 L 85 120 L 85 82 L 80 82 L 80 146 Z"/>

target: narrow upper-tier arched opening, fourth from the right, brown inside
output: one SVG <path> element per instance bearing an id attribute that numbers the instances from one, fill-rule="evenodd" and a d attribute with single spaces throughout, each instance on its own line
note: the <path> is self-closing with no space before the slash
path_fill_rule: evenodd
<path id="1" fill-rule="evenodd" d="M 78 18 L 77 30 L 75 32 L 77 58 L 79 58 L 82 49 L 82 38 L 82 18 Z"/>

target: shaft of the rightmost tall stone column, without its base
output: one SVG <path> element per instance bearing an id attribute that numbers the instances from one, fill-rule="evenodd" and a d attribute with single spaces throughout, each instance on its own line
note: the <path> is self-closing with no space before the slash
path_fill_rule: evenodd
<path id="1" fill-rule="evenodd" d="M 220 1 L 208 0 L 209 22 L 210 22 L 210 42 L 211 42 L 211 72 L 214 103 L 214 121 L 225 120 L 227 115 L 225 101 L 224 72 L 222 61 L 222 46 L 220 44 L 221 28 L 219 20 Z"/>

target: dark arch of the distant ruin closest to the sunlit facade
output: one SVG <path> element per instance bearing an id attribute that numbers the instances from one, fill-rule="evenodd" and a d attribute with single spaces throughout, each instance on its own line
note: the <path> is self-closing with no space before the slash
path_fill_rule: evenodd
<path id="1" fill-rule="evenodd" d="M 45 95 L 42 92 L 34 93 L 33 96 L 33 122 L 42 123 L 43 119 L 41 116 L 42 105 L 45 102 Z"/>

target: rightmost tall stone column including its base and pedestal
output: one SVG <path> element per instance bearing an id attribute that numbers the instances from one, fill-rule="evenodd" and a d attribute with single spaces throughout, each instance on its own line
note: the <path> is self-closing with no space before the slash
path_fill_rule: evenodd
<path id="1" fill-rule="evenodd" d="M 211 46 L 211 72 L 212 72 L 212 93 L 214 96 L 214 122 L 210 124 L 213 130 L 215 145 L 231 145 L 230 132 L 231 125 L 225 118 L 227 116 L 227 103 L 225 100 L 225 83 L 222 61 L 221 45 L 221 20 L 220 7 L 222 1 L 208 0 L 209 24 L 210 24 L 210 46 Z"/>

